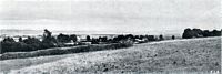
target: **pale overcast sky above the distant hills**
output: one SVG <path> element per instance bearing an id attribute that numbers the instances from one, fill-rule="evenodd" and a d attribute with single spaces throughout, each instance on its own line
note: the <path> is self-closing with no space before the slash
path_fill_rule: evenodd
<path id="1" fill-rule="evenodd" d="M 0 29 L 220 29 L 220 0 L 1 0 Z"/>

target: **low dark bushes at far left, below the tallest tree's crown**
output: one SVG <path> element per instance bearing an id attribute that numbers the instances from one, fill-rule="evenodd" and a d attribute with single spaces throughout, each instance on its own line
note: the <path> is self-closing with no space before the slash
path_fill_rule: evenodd
<path id="1" fill-rule="evenodd" d="M 43 43 L 36 39 L 28 39 L 23 42 L 1 42 L 1 53 L 6 52 L 29 52 L 42 49 L 56 47 L 53 43 Z"/>

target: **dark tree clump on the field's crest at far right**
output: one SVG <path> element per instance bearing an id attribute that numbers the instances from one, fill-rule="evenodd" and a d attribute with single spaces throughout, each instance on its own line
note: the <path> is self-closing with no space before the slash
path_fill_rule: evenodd
<path id="1" fill-rule="evenodd" d="M 201 30 L 201 29 L 185 29 L 183 32 L 183 39 L 191 39 L 191 38 L 205 38 L 205 36 L 220 36 L 221 31 L 213 30 Z"/>

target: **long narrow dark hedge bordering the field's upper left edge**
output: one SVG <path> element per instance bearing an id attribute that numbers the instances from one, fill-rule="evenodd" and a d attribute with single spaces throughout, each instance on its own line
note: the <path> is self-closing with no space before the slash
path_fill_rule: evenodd
<path id="1" fill-rule="evenodd" d="M 43 55 L 59 55 L 59 54 L 91 52 L 101 50 L 115 50 L 115 49 L 129 47 L 132 45 L 133 45 L 132 43 L 113 43 L 113 44 L 81 45 L 72 47 L 54 47 L 54 49 L 39 50 L 33 52 L 9 52 L 0 55 L 0 60 L 24 59 L 24 57 L 34 57 Z"/>

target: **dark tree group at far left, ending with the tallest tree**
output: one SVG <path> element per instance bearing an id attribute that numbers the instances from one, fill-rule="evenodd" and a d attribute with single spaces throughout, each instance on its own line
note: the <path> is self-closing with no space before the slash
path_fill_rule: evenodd
<path id="1" fill-rule="evenodd" d="M 49 49 L 57 46 L 56 38 L 51 36 L 51 32 L 44 30 L 43 39 L 28 36 L 27 39 L 19 38 L 19 42 L 16 42 L 12 38 L 6 38 L 1 41 L 1 51 L 4 52 L 22 52 L 22 51 L 36 51 L 41 49 Z"/>

